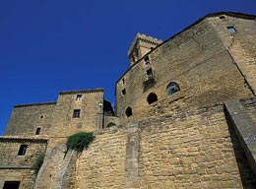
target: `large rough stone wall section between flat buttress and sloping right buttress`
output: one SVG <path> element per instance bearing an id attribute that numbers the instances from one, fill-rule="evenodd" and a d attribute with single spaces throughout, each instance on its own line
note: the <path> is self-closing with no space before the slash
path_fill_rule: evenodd
<path id="1" fill-rule="evenodd" d="M 243 188 L 222 105 L 149 120 L 141 130 L 144 188 Z"/>

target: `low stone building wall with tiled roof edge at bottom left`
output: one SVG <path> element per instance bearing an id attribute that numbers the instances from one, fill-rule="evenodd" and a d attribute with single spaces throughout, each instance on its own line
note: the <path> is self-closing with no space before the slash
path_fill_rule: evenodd
<path id="1" fill-rule="evenodd" d="M 46 149 L 46 140 L 0 138 L 0 188 L 5 181 L 20 181 L 20 189 L 32 188 L 32 164 Z M 25 156 L 18 156 L 21 145 L 28 145 Z"/>

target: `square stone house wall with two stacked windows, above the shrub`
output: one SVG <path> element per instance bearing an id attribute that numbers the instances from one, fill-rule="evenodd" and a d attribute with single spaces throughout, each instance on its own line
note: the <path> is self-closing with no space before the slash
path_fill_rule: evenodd
<path id="1" fill-rule="evenodd" d="M 77 100 L 77 95 L 82 95 L 80 100 Z M 100 89 L 60 93 L 53 112 L 50 136 L 69 137 L 82 131 L 95 131 L 102 120 L 98 106 L 100 101 L 103 102 L 103 91 Z M 73 117 L 75 109 L 80 110 L 80 117 Z"/>

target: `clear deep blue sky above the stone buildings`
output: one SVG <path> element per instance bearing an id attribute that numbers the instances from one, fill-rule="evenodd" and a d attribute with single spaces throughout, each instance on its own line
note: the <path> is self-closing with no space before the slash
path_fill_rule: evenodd
<path id="1" fill-rule="evenodd" d="M 129 67 L 137 32 L 167 39 L 209 13 L 256 15 L 256 0 L 7 0 L 0 2 L 0 135 L 15 104 L 104 88 Z"/>

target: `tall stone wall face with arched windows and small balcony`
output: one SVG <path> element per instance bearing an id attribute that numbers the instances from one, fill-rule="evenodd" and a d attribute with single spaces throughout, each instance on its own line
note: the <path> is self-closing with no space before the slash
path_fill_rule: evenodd
<path id="1" fill-rule="evenodd" d="M 148 56 L 151 66 L 146 66 L 141 59 L 116 83 L 116 110 L 121 124 L 173 110 L 252 96 L 208 18 L 166 40 Z M 147 84 L 146 72 L 150 68 L 155 81 Z M 180 92 L 167 95 L 166 87 L 170 82 L 177 83 Z M 124 89 L 126 94 L 123 94 Z M 151 93 L 158 95 L 158 101 L 149 104 L 147 97 Z M 133 115 L 127 118 L 128 106 Z"/>

